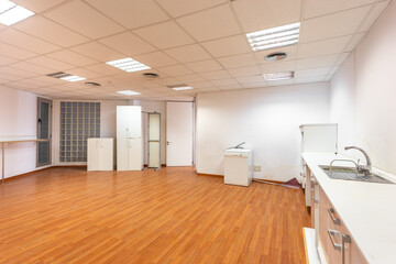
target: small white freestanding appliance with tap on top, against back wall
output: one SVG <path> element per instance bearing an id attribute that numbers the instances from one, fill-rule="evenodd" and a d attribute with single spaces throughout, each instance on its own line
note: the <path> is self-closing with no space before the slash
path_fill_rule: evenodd
<path id="1" fill-rule="evenodd" d="M 253 178 L 253 151 L 229 148 L 224 151 L 224 184 L 249 186 Z"/>

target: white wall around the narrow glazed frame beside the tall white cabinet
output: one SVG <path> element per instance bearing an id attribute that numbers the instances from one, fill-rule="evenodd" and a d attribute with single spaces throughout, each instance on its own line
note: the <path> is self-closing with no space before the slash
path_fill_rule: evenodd
<path id="1" fill-rule="evenodd" d="M 141 106 L 142 111 L 161 113 L 161 164 L 166 164 L 166 101 L 133 100 L 133 106 Z M 147 164 L 147 114 L 143 114 L 143 157 Z"/>

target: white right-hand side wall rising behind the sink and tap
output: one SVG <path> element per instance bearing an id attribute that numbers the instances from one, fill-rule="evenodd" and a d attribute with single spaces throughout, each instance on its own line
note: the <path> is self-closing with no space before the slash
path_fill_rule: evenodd
<path id="1" fill-rule="evenodd" d="M 358 46 L 354 57 L 331 80 L 332 121 L 344 124 L 340 136 L 349 139 L 353 134 L 351 142 L 369 152 L 373 165 L 393 174 L 396 174 L 395 46 L 396 1 L 392 1 Z M 349 120 L 354 125 L 346 128 Z M 358 155 L 352 151 L 346 154 Z"/>

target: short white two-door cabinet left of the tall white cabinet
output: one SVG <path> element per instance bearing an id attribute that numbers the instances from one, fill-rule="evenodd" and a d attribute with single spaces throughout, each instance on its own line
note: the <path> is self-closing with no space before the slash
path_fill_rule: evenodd
<path id="1" fill-rule="evenodd" d="M 88 139 L 88 170 L 113 170 L 113 139 Z"/>

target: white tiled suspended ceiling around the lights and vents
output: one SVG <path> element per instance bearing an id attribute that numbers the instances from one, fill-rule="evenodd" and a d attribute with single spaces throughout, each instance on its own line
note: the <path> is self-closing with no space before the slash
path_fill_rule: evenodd
<path id="1" fill-rule="evenodd" d="M 13 0 L 36 15 L 0 25 L 0 86 L 50 98 L 120 99 L 131 89 L 151 100 L 197 92 L 329 80 L 389 0 Z M 245 33 L 301 22 L 299 43 L 253 53 Z M 264 56 L 286 52 L 285 61 Z M 150 70 L 106 62 L 132 57 Z M 47 77 L 66 72 L 100 82 Z M 295 70 L 293 80 L 264 73 Z M 150 80 L 142 73 L 160 74 Z M 194 90 L 174 91 L 186 84 Z"/>

